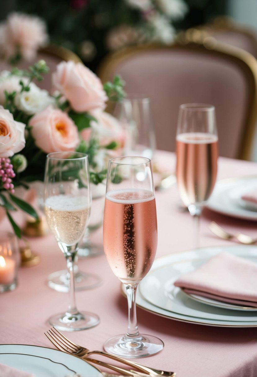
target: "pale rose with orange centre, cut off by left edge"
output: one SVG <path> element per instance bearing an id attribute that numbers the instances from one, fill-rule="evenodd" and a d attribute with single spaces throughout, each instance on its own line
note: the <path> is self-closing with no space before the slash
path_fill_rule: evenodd
<path id="1" fill-rule="evenodd" d="M 9 110 L 0 108 L 0 157 L 11 157 L 25 146 L 25 124 L 16 122 Z"/>

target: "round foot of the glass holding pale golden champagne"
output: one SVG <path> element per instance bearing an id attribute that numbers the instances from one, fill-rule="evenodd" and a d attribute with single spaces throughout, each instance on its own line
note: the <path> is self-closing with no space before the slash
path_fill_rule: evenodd
<path id="1" fill-rule="evenodd" d="M 50 325 L 55 326 L 60 331 L 80 331 L 98 325 L 99 317 L 87 311 L 77 314 L 59 313 L 48 319 Z"/>

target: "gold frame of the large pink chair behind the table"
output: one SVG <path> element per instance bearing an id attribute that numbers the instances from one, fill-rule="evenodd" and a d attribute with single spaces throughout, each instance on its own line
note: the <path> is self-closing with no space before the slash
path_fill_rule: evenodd
<path id="1" fill-rule="evenodd" d="M 236 63 L 237 66 L 240 67 L 245 81 L 248 84 L 249 99 L 242 127 L 242 137 L 235 158 L 251 160 L 251 147 L 254 140 L 255 127 L 257 125 L 257 60 L 248 52 L 233 46 L 218 43 L 212 37 L 206 37 L 203 41 L 199 41 L 198 38 L 196 42 L 196 35 L 194 34 L 194 40 L 192 41 L 191 39 L 192 38 L 189 38 L 188 35 L 184 33 L 179 36 L 176 43 L 169 46 L 145 44 L 123 48 L 110 53 L 99 64 L 97 69 L 98 77 L 102 82 L 112 79 L 113 72 L 116 72 L 116 67 L 118 67 L 122 61 L 126 61 L 133 55 L 141 54 L 146 51 L 158 51 L 159 49 L 191 51 L 195 49 L 204 51 L 205 54 L 212 56 L 213 54 L 218 56 L 222 55 L 223 58 Z"/>

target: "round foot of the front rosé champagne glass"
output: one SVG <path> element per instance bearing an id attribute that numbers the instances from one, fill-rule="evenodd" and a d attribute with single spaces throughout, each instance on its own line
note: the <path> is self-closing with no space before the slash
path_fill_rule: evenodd
<path id="1" fill-rule="evenodd" d="M 113 355 L 136 358 L 154 355 L 164 347 L 161 339 L 151 335 L 140 334 L 138 338 L 130 339 L 125 335 L 116 335 L 104 343 L 104 350 Z"/>

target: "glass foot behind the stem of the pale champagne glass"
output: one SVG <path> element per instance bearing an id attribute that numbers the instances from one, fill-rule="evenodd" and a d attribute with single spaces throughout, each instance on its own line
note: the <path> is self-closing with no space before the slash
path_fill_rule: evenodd
<path id="1" fill-rule="evenodd" d="M 75 291 L 83 291 L 98 287 L 102 283 L 100 277 L 82 271 L 74 273 Z M 53 272 L 48 276 L 48 285 L 58 292 L 69 292 L 69 274 L 67 270 Z"/>

